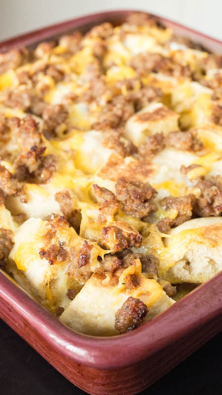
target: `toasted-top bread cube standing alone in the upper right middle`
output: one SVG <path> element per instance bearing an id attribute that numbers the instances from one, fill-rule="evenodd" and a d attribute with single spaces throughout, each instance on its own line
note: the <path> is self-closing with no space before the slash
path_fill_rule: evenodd
<path id="1" fill-rule="evenodd" d="M 126 122 L 125 135 L 136 146 L 144 143 L 147 136 L 178 130 L 179 115 L 162 103 L 150 103 Z"/>

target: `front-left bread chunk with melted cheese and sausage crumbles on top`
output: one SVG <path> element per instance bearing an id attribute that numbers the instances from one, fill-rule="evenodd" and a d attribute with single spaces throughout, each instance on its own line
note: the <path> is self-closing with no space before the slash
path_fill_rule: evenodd
<path id="1" fill-rule="evenodd" d="M 26 287 L 25 277 L 32 293 L 55 312 L 70 302 L 68 290 L 79 291 L 104 253 L 95 241 L 79 237 L 64 217 L 30 218 L 15 235 L 9 258 L 16 267 L 10 269 L 18 283 Z"/>

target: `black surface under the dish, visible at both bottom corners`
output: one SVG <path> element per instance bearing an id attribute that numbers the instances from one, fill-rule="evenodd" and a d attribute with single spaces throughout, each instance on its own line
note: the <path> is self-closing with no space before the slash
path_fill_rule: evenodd
<path id="1" fill-rule="evenodd" d="M 221 354 L 222 334 L 219 334 L 140 395 L 222 394 Z M 0 393 L 86 394 L 58 373 L 3 321 L 0 321 Z"/>

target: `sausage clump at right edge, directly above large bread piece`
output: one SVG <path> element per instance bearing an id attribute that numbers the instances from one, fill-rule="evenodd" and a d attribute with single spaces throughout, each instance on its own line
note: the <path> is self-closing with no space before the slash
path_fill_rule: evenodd
<path id="1" fill-rule="evenodd" d="M 195 200 L 193 212 L 199 217 L 219 216 L 222 213 L 222 180 L 221 176 L 209 180 L 200 180 L 195 184 L 200 196 Z"/>

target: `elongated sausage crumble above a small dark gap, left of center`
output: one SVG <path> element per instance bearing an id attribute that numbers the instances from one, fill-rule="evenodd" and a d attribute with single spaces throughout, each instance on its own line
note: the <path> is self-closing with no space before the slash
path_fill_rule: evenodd
<path id="1" fill-rule="evenodd" d="M 55 194 L 55 200 L 58 201 L 60 209 L 67 221 L 76 230 L 76 232 L 78 232 L 81 223 L 81 214 L 74 207 L 75 199 L 72 197 L 71 191 L 64 189 L 57 192 Z"/>

